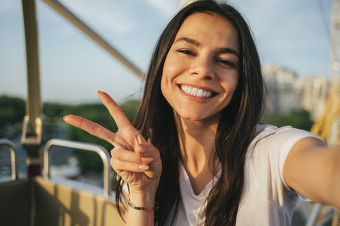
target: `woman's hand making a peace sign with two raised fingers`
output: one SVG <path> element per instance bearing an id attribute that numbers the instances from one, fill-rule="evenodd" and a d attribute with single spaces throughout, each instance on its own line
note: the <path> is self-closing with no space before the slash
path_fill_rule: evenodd
<path id="1" fill-rule="evenodd" d="M 100 91 L 98 96 L 117 124 L 116 133 L 75 115 L 64 116 L 64 121 L 115 146 L 111 150 L 110 163 L 113 170 L 129 184 L 130 192 L 155 194 L 162 173 L 158 149 L 131 125 L 111 96 Z"/>

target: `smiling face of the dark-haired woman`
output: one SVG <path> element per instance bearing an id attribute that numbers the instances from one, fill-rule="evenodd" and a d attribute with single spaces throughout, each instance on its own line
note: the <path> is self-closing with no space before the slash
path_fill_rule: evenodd
<path id="1" fill-rule="evenodd" d="M 182 23 L 163 66 L 161 90 L 182 119 L 213 120 L 238 83 L 238 32 L 224 17 L 194 13 Z"/>

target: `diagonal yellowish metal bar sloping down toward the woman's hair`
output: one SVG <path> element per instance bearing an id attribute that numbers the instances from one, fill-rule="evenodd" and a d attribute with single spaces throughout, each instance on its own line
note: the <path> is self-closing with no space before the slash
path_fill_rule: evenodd
<path id="1" fill-rule="evenodd" d="M 129 68 L 133 74 L 138 76 L 140 79 L 144 81 L 144 74 L 141 70 L 139 70 L 133 63 L 131 63 L 128 59 L 126 59 L 125 56 L 120 54 L 115 48 L 113 48 L 112 45 L 110 45 L 107 41 L 102 39 L 99 34 L 97 34 L 94 30 L 92 30 L 86 23 L 84 23 L 81 19 L 79 19 L 73 12 L 68 10 L 62 3 L 60 3 L 57 0 L 43 0 L 50 8 L 53 8 L 55 12 L 60 14 L 62 17 L 64 17 L 66 20 L 68 20 L 70 23 L 75 25 L 76 28 L 78 28 L 80 31 L 82 31 L 84 34 L 86 34 L 87 37 L 95 41 L 100 47 L 102 47 L 104 50 L 106 50 L 111 56 L 115 57 L 120 63 L 126 66 L 126 68 Z"/>

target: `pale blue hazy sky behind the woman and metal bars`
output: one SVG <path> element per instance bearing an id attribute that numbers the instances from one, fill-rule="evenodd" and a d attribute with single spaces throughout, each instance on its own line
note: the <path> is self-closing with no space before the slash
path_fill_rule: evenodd
<path id="1" fill-rule="evenodd" d="M 118 103 L 142 96 L 143 83 L 44 1 L 37 0 L 41 100 Z M 180 0 L 64 0 L 69 10 L 146 72 L 158 37 Z M 230 0 L 254 34 L 265 65 L 329 78 L 331 0 Z M 0 0 L 0 95 L 26 98 L 21 1 Z"/>

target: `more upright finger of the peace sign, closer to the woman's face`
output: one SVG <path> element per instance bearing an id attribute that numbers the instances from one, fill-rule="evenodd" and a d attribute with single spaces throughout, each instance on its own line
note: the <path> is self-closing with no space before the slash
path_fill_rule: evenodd
<path id="1" fill-rule="evenodd" d="M 108 112 L 110 112 L 118 128 L 132 126 L 129 119 L 126 118 L 126 115 L 124 114 L 122 109 L 120 109 L 120 106 L 118 106 L 117 103 L 113 101 L 111 96 L 102 91 L 98 91 L 98 96 L 100 98 L 100 101 L 102 101 L 102 103 L 108 109 Z"/>

